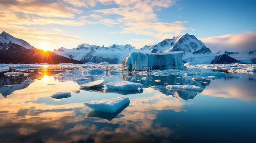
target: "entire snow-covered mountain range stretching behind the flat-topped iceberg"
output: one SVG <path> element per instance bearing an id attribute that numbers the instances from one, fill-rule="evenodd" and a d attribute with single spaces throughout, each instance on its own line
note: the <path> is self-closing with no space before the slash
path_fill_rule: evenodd
<path id="1" fill-rule="evenodd" d="M 67 58 L 82 61 L 84 63 L 89 61 L 94 63 L 106 61 L 110 64 L 120 64 L 133 51 L 142 53 L 167 53 L 172 51 L 184 51 L 183 61 L 200 64 L 211 64 L 213 61 L 214 63 L 235 62 L 237 61 L 236 58 L 231 56 L 239 56 L 239 54 L 236 54 L 236 52 L 228 51 L 226 51 L 226 53 L 212 53 L 202 41 L 198 40 L 194 35 L 189 35 L 188 33 L 173 37 L 172 39 L 166 39 L 154 44 L 153 46 L 145 45 L 140 49 L 135 49 L 130 44 L 113 44 L 109 47 L 105 47 L 104 45 L 97 46 L 84 43 L 78 45 L 78 47 L 74 49 L 65 49 L 62 47 L 54 52 Z M 216 59 L 218 56 L 221 58 Z M 243 60 L 241 62 L 254 63 L 252 60 Z"/>

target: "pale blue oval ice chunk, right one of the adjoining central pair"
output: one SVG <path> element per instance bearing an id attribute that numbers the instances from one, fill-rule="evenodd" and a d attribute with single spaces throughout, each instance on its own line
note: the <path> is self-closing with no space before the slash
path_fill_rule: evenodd
<path id="1" fill-rule="evenodd" d="M 117 90 L 138 90 L 138 88 L 142 88 L 143 85 L 140 83 L 128 82 L 128 81 L 117 81 L 117 82 L 109 82 L 104 84 L 105 87 L 110 89 Z"/>

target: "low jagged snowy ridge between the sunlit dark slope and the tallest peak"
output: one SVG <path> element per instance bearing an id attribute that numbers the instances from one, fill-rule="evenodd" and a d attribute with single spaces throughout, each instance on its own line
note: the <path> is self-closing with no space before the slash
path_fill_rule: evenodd
<path id="1" fill-rule="evenodd" d="M 66 49 L 59 48 L 54 50 L 56 54 L 61 56 L 71 58 L 74 60 L 82 61 L 83 63 L 87 62 L 108 62 L 110 64 L 120 64 L 123 59 L 125 59 L 132 51 L 137 51 L 132 45 L 118 45 L 112 44 L 109 47 L 89 45 L 83 43 L 78 45 L 77 48 Z"/>

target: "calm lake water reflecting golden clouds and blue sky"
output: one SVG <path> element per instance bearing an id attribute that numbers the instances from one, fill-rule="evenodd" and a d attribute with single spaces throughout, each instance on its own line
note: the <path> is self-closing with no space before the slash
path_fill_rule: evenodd
<path id="1" fill-rule="evenodd" d="M 65 70 L 74 71 L 67 75 Z M 214 81 L 173 74 L 155 76 L 121 72 L 83 76 L 76 66 L 0 72 L 0 143 L 255 143 L 256 75 L 228 73 Z M 200 71 L 200 69 L 198 69 Z M 197 72 L 197 71 L 195 71 Z M 54 77 L 63 73 L 64 78 Z M 127 80 L 143 91 L 82 90 L 78 77 L 89 81 Z M 146 77 L 145 80 L 141 80 Z M 26 83 L 30 79 L 33 82 Z M 161 80 L 161 82 L 155 82 Z M 171 84 L 198 85 L 201 93 L 171 91 Z M 153 87 L 152 87 L 153 86 Z M 56 92 L 72 96 L 54 99 Z M 126 95 L 130 103 L 118 112 L 93 112 L 83 104 Z"/>

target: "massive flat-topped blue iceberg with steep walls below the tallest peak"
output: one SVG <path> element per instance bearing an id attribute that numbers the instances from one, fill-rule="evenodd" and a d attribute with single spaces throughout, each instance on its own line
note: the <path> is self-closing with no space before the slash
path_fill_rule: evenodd
<path id="1" fill-rule="evenodd" d="M 128 70 L 165 70 L 165 69 L 183 69 L 182 61 L 183 51 L 174 51 L 168 53 L 141 53 L 132 52 L 122 62 L 123 67 Z"/>

